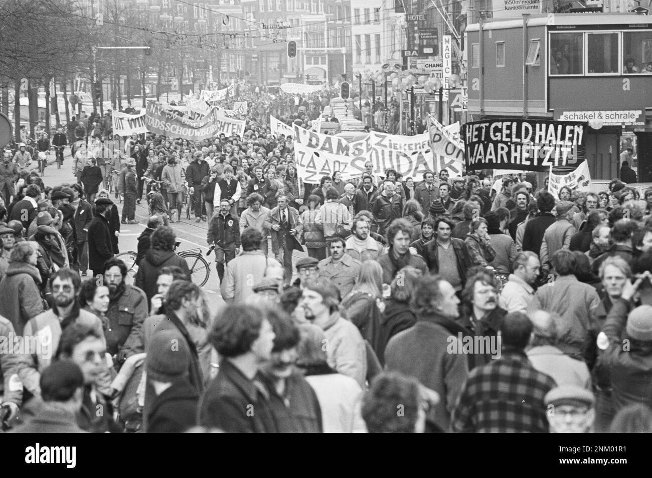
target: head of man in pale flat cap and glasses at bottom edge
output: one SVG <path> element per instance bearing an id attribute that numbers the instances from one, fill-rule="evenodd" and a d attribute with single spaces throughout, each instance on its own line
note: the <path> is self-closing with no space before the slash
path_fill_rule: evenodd
<path id="1" fill-rule="evenodd" d="M 578 385 L 560 385 L 546 393 L 551 433 L 590 433 L 595 421 L 595 397 Z"/>

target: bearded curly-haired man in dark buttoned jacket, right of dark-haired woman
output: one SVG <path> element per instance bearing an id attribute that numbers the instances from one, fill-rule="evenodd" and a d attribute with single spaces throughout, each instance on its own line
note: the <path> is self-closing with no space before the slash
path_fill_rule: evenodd
<path id="1" fill-rule="evenodd" d="M 126 358 L 142 353 L 141 329 L 147 317 L 145 292 L 125 283 L 126 265 L 111 259 L 104 265 L 104 285 L 109 288 L 109 310 L 106 312 L 106 348 L 116 368 Z"/>

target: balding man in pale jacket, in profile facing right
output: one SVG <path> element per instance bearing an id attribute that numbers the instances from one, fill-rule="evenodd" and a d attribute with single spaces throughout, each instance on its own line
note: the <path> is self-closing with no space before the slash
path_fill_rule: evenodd
<path id="1" fill-rule="evenodd" d="M 541 273 L 539 256 L 531 250 L 519 252 L 514 260 L 514 272 L 500 294 L 499 304 L 507 312 L 526 312 L 534 296 L 533 286 Z"/>

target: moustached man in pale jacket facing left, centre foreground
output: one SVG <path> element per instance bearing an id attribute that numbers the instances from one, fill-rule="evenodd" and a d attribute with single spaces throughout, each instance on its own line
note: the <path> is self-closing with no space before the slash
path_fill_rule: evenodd
<path id="1" fill-rule="evenodd" d="M 306 320 L 324 331 L 329 365 L 363 387 L 367 371 L 366 346 L 358 328 L 340 316 L 337 288 L 323 277 L 307 280 L 301 306 Z"/>

